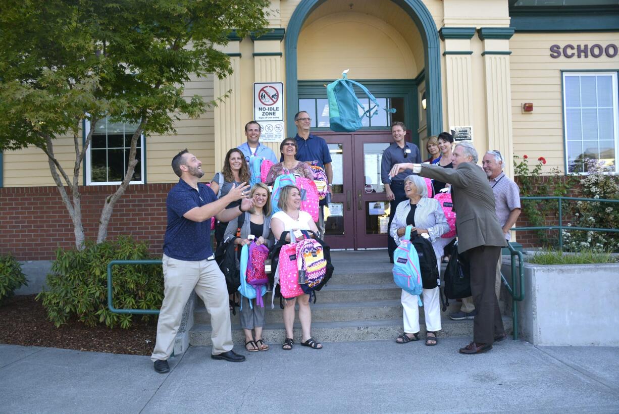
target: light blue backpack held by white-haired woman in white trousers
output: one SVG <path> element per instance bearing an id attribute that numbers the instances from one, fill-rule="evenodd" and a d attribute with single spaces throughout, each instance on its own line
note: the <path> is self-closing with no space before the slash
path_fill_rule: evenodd
<path id="1" fill-rule="evenodd" d="M 422 274 L 419 270 L 419 257 L 415 246 L 410 243 L 410 231 L 413 226 L 406 226 L 404 240 L 400 241 L 396 251 L 393 252 L 393 280 L 402 290 L 411 295 L 417 295 L 417 303 L 423 306 L 420 295 L 422 294 Z"/>

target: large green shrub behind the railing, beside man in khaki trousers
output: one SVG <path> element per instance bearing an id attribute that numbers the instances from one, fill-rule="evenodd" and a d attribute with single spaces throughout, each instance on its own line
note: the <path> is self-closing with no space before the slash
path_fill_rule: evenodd
<path id="1" fill-rule="evenodd" d="M 145 260 L 153 257 L 144 242 L 130 237 L 100 244 L 88 242 L 82 251 L 56 252 L 47 291 L 39 293 L 48 316 L 56 327 L 76 316 L 87 326 L 129 328 L 132 315 L 111 313 L 107 307 L 107 266 L 113 260 Z M 115 308 L 159 309 L 163 300 L 163 272 L 160 265 L 121 265 L 112 268 Z M 152 317 L 152 316 L 150 316 Z M 149 316 L 142 316 L 148 319 Z"/>

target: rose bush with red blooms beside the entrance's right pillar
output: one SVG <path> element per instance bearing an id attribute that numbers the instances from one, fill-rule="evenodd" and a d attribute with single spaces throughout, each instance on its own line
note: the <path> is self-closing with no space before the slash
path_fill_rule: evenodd
<path id="1" fill-rule="evenodd" d="M 532 169 L 529 166 L 529 157 L 522 155 L 522 159 L 514 155 L 514 176 L 521 184 L 522 197 L 565 196 L 568 188 L 573 185 L 571 179 L 563 181 L 559 177 L 563 174 L 558 168 L 550 170 L 552 175 L 543 181 L 541 173 L 546 158 L 537 158 L 537 165 Z M 548 189 L 551 189 L 549 192 Z M 522 213 L 527 217 L 531 226 L 545 226 L 547 221 L 558 219 L 558 202 L 555 200 L 522 200 Z M 558 246 L 558 238 L 548 238 L 547 230 L 537 231 L 537 237 L 545 246 Z"/>

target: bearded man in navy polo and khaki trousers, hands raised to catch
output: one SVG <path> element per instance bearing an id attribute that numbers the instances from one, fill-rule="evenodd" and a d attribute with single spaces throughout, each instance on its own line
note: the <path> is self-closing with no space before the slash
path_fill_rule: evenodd
<path id="1" fill-rule="evenodd" d="M 251 209 L 253 201 L 247 198 L 249 186 L 242 183 L 218 200 L 209 187 L 198 183 L 204 175 L 202 162 L 186 149 L 172 158 L 172 170 L 180 179 L 166 199 L 168 226 L 162 258 L 164 297 L 157 323 L 157 342 L 150 360 L 158 373 L 170 371 L 167 360 L 172 354 L 183 309 L 195 289 L 210 314 L 211 358 L 245 361 L 245 356 L 232 350 L 228 289 L 210 246 L 210 218 L 215 216 L 217 220 L 229 222 Z M 242 201 L 237 209 L 225 208 L 238 200 Z"/>

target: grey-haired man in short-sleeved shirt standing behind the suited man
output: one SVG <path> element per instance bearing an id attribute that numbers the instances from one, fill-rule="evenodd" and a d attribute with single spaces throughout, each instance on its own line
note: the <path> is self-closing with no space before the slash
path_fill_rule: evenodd
<path id="1" fill-rule="evenodd" d="M 483 156 L 482 167 L 483 171 L 488 176 L 488 184 L 495 193 L 496 201 L 496 218 L 503 228 L 503 234 L 509 241 L 509 229 L 514 226 L 518 216 L 520 215 L 520 192 L 518 184 L 514 183 L 503 172 L 504 160 L 500 152 L 488 151 Z M 496 282 L 495 293 L 499 297 L 501 290 L 501 256 L 496 264 Z M 449 315 L 454 321 L 462 321 L 464 319 L 474 319 L 477 311 L 473 304 L 473 298 L 462 299 L 462 308 L 459 312 Z"/>

